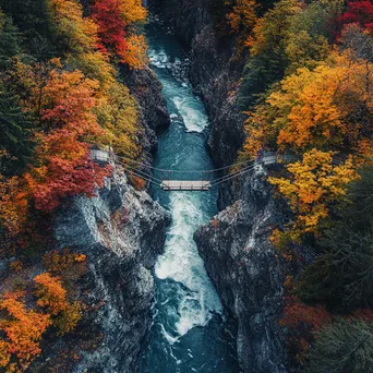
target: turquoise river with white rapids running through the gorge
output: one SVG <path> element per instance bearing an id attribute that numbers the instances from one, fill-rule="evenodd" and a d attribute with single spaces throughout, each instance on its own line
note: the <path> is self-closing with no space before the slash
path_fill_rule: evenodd
<path id="1" fill-rule="evenodd" d="M 180 171 L 213 169 L 206 148 L 208 118 L 204 105 L 181 77 L 184 52 L 156 16 L 151 17 L 146 34 L 152 68 L 163 83 L 171 118 L 170 128 L 158 136 L 154 167 Z M 160 172 L 155 176 L 163 177 Z M 188 177 L 177 175 L 181 179 Z M 172 224 L 165 253 L 154 270 L 154 323 L 141 372 L 239 372 L 233 327 L 226 321 L 193 241 L 197 227 L 217 213 L 217 191 L 169 193 L 153 188 L 152 194 L 171 213 Z"/>

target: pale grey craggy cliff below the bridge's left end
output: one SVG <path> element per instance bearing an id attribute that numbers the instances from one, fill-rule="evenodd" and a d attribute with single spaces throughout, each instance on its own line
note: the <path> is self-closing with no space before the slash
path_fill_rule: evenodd
<path id="1" fill-rule="evenodd" d="M 137 372 L 141 342 L 151 324 L 154 280 L 168 214 L 146 192 L 129 186 L 120 169 L 93 198 L 77 197 L 55 219 L 61 248 L 87 256 L 80 291 L 85 322 L 100 342 L 77 351 L 73 372 Z M 96 332 L 95 332 L 96 330 Z"/>

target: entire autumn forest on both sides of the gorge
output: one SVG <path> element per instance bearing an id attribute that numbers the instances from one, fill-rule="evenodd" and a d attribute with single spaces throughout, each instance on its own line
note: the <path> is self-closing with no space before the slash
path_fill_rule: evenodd
<path id="1" fill-rule="evenodd" d="M 372 372 L 373 1 L 216 0 L 210 13 L 245 64 L 237 158 L 297 159 L 268 176 L 289 214 L 270 240 L 288 268 L 290 364 Z M 29 369 L 84 315 L 86 257 L 51 249 L 50 216 L 111 175 L 91 144 L 142 155 L 124 77 L 148 64 L 146 17 L 140 0 L 0 0 L 0 372 Z M 314 260 L 299 270 L 302 250 Z"/>

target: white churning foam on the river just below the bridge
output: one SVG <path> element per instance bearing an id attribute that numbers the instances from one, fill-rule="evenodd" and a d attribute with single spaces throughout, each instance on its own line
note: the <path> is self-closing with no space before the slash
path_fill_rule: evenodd
<path id="1" fill-rule="evenodd" d="M 170 210 L 172 225 L 155 274 L 159 279 L 169 278 L 182 285 L 178 289 L 180 301 L 172 332 L 183 336 L 197 325 L 206 325 L 213 312 L 221 313 L 222 308 L 193 241 L 195 229 L 204 221 L 198 194 L 172 193 Z"/>

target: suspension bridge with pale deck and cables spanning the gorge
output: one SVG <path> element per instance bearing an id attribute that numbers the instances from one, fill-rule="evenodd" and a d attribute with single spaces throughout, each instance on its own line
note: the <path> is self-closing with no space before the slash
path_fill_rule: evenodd
<path id="1" fill-rule="evenodd" d="M 107 157 L 104 153 L 107 153 Z M 146 166 L 141 161 L 128 157 L 121 157 L 100 149 L 92 149 L 91 157 L 98 161 L 113 161 L 124 168 L 125 171 L 141 178 L 151 184 L 161 188 L 164 191 L 209 191 L 210 188 L 238 178 L 251 171 L 256 165 L 273 165 L 290 163 L 296 159 L 293 155 L 277 155 L 267 153 L 264 156 L 240 161 L 230 166 L 215 168 L 209 170 L 172 170 L 163 169 L 153 166 Z M 106 159 L 106 160 L 105 160 Z M 232 172 L 219 178 L 214 178 L 218 171 L 233 169 Z M 236 169 L 236 170 L 234 170 Z M 155 175 L 160 175 L 156 177 Z"/>

